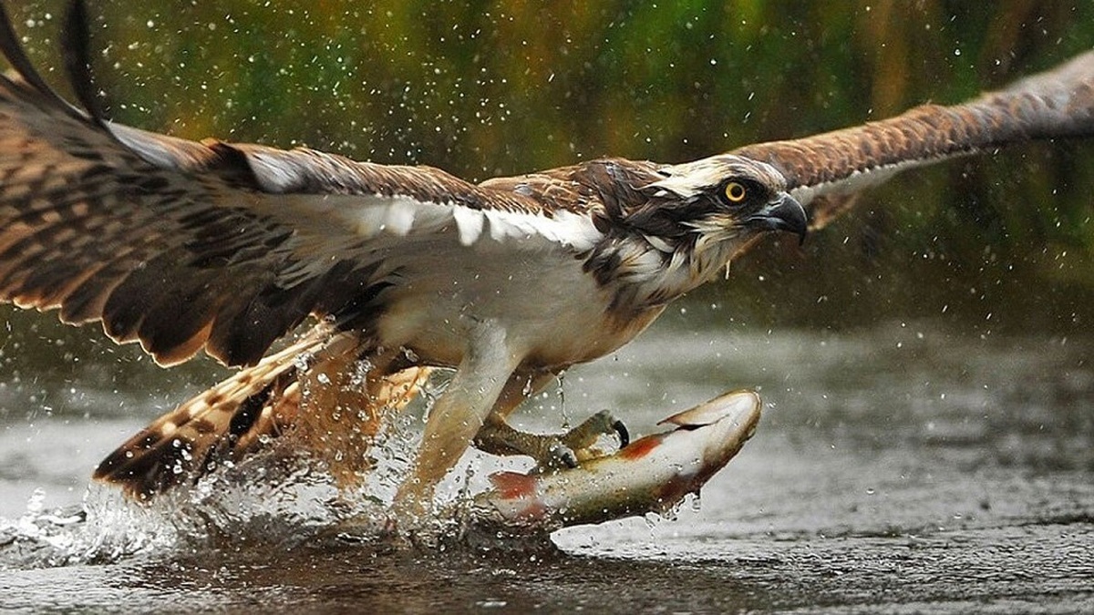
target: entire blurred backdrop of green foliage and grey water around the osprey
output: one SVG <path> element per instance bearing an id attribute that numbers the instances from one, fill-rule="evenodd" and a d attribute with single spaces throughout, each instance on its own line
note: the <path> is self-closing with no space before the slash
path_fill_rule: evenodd
<path id="1" fill-rule="evenodd" d="M 4 5 L 67 92 L 63 2 Z M 117 121 L 468 179 L 602 155 L 679 162 L 806 136 L 959 102 L 1094 47 L 1089 1 L 89 5 L 94 73 Z M 595 559 L 533 558 L 492 573 L 444 561 L 423 573 L 417 560 L 326 553 L 282 553 L 269 566 L 266 548 L 260 565 L 221 565 L 206 549 L 190 568 L 135 572 L 123 559 L 5 571 L 0 610 L 7 600 L 32 611 L 246 611 L 274 600 L 449 611 L 507 604 L 499 596 L 516 611 L 1089 610 L 1092 202 L 1094 139 L 916 171 L 803 246 L 764 243 L 729 281 L 572 369 L 566 403 L 550 392 L 514 415 L 520 427 L 558 429 L 613 408 L 649 432 L 738 386 L 768 404 L 756 438 L 683 522 L 556 536 Z M 0 305 L 0 569 L 42 566 L 40 552 L 57 549 L 27 524 L 80 502 L 106 452 L 223 375 L 207 359 L 161 370 L 97 327 Z M 5 527 L 26 539 L 4 538 Z M 147 527 L 123 530 L 128 544 Z M 100 546 L 86 554 L 110 545 L 91 538 Z M 211 589 L 210 570 L 228 570 Z"/>

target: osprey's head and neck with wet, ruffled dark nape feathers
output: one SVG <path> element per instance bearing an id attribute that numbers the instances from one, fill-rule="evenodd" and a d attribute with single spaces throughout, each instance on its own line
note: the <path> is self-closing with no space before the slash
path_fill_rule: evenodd
<path id="1" fill-rule="evenodd" d="M 713 279 L 759 235 L 789 231 L 804 239 L 808 219 L 770 164 L 721 154 L 683 164 L 601 161 L 607 241 L 586 269 L 627 287 L 625 301 L 662 305 Z M 610 224 L 608 222 L 614 222 Z"/>

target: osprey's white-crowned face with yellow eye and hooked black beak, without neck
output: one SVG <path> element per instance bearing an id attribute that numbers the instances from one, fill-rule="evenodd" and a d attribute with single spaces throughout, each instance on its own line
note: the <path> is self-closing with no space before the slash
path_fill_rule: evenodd
<path id="1" fill-rule="evenodd" d="M 805 210 L 770 164 L 722 154 L 666 165 L 659 172 L 663 178 L 642 189 L 653 206 L 648 213 L 677 225 L 677 232 L 694 234 L 702 243 L 742 245 L 767 231 L 789 231 L 805 239 Z"/>

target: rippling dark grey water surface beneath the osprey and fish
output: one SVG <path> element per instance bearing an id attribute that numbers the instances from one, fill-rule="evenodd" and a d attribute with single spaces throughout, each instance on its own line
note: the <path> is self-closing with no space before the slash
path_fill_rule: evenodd
<path id="1" fill-rule="evenodd" d="M 565 530 L 556 553 L 337 545 L 294 537 L 291 514 L 279 532 L 229 521 L 186 538 L 103 494 L 90 527 L 58 529 L 48 513 L 80 502 L 93 464 L 156 410 L 127 418 L 133 391 L 42 383 L 36 411 L 24 382 L 0 391 L 0 610 L 1090 612 L 1092 343 L 668 322 L 568 374 L 566 414 L 617 408 L 645 432 L 753 386 L 759 430 L 698 510 Z M 85 409 L 43 411 L 43 396 Z M 559 405 L 528 425 L 557 427 Z M 254 508 L 246 492 L 225 501 Z"/>

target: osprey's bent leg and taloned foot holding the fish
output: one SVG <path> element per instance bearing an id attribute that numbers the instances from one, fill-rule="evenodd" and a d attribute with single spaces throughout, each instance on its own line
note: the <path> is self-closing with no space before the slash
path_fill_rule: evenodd
<path id="1" fill-rule="evenodd" d="M 475 446 L 494 455 L 528 455 L 539 467 L 577 467 L 587 459 L 600 456 L 593 445 L 601 436 L 616 436 L 626 446 L 627 428 L 610 413 L 603 410 L 565 433 L 528 433 L 514 429 L 505 421 L 526 398 L 539 393 L 554 380 L 554 372 L 534 375 L 516 373 L 510 378 L 486 422 L 475 434 Z"/>

